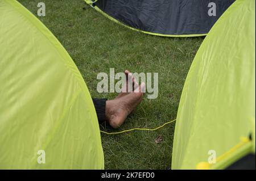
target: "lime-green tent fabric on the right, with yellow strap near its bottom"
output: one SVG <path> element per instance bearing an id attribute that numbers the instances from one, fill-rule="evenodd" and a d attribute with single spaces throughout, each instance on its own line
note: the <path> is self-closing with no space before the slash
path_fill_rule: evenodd
<path id="1" fill-rule="evenodd" d="M 255 1 L 237 0 L 210 30 L 187 75 L 177 112 L 172 169 L 196 169 L 199 163 L 225 169 L 255 153 L 253 149 Z M 208 162 L 210 150 L 216 153 L 216 163 Z"/>

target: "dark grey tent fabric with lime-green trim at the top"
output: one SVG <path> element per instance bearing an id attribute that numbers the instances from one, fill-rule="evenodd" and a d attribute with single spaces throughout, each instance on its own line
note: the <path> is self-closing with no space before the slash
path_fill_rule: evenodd
<path id="1" fill-rule="evenodd" d="M 85 2 L 114 22 L 132 30 L 151 35 L 187 37 L 206 35 L 234 0 L 98 0 L 96 2 L 85 0 Z M 215 7 L 216 14 L 211 14 Z"/>

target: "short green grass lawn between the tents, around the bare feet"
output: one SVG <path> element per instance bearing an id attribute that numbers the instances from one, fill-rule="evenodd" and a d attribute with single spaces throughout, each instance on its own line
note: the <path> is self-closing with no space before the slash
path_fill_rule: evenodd
<path id="1" fill-rule="evenodd" d="M 36 15 L 41 1 L 19 0 Z M 155 128 L 176 117 L 189 67 L 203 37 L 171 38 L 129 30 L 86 6 L 82 0 L 44 0 L 46 16 L 39 18 L 64 45 L 75 61 L 94 98 L 113 99 L 117 94 L 99 94 L 97 74 L 129 69 L 158 72 L 159 95 L 147 99 L 118 131 Z M 83 7 L 87 7 L 83 10 Z M 108 125 L 102 130 L 113 132 Z M 154 132 L 102 134 L 105 169 L 170 169 L 175 123 Z M 159 135 L 163 141 L 155 144 Z"/>

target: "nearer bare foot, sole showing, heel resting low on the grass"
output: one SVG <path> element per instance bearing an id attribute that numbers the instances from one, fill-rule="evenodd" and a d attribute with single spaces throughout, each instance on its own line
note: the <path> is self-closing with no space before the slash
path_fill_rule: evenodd
<path id="1" fill-rule="evenodd" d="M 120 92 L 114 100 L 106 101 L 106 117 L 112 128 L 121 127 L 126 117 L 141 103 L 145 89 L 144 82 L 137 89 L 133 92 Z"/>

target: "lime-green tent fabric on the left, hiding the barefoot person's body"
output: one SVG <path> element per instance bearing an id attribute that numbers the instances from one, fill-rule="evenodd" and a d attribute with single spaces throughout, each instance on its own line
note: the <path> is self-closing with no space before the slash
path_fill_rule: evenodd
<path id="1" fill-rule="evenodd" d="M 0 0 L 0 36 L 0 169 L 104 169 L 92 98 L 56 37 L 14 0 Z"/>

